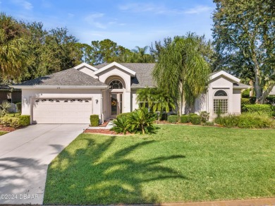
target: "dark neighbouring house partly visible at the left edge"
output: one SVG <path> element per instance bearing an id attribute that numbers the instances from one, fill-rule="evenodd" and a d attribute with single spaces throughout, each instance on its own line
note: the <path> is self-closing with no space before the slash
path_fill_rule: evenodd
<path id="1" fill-rule="evenodd" d="M 0 104 L 4 100 L 11 103 L 21 102 L 21 95 L 20 89 L 13 89 L 8 85 L 0 85 Z"/>

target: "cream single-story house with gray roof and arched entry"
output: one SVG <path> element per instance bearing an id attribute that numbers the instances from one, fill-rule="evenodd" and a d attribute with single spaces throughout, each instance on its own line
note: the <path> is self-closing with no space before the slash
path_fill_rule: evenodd
<path id="1" fill-rule="evenodd" d="M 104 121 L 138 108 L 137 90 L 155 87 L 154 65 L 81 63 L 13 87 L 22 90 L 22 114 L 30 115 L 32 123 L 90 123 L 91 114 Z M 240 114 L 241 92 L 248 87 L 225 71 L 212 73 L 195 101 L 195 112 L 208 111 L 213 118 L 220 107 L 224 113 Z"/>

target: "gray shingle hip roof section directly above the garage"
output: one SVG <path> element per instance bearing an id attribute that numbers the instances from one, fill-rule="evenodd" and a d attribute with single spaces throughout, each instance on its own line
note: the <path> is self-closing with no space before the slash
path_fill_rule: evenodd
<path id="1" fill-rule="evenodd" d="M 92 78 L 90 75 L 82 73 L 75 68 L 69 68 L 63 71 L 52 73 L 51 75 L 45 75 L 34 80 L 28 80 L 23 83 L 17 84 L 19 86 L 27 85 L 66 85 L 66 86 L 106 86 L 99 80 Z"/>

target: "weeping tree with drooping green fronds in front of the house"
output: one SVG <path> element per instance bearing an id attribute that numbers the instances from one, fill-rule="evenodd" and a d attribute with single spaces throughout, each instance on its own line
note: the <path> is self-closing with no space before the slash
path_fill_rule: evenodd
<path id="1" fill-rule="evenodd" d="M 204 59 L 202 38 L 194 33 L 175 37 L 159 52 L 153 71 L 154 80 L 161 90 L 175 97 L 178 114 L 183 114 L 183 105 L 193 106 L 195 97 L 207 85 L 209 63 Z"/>

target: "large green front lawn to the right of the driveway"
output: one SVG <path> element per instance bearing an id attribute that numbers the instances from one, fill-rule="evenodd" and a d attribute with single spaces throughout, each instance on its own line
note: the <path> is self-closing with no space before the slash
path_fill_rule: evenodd
<path id="1" fill-rule="evenodd" d="M 44 204 L 275 196 L 275 130 L 158 127 L 144 136 L 79 135 L 51 162 Z"/>

